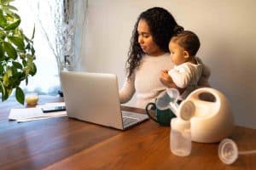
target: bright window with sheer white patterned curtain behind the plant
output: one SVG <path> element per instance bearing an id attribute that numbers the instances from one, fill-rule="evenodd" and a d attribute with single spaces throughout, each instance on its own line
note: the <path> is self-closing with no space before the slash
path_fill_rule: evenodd
<path id="1" fill-rule="evenodd" d="M 15 0 L 21 28 L 31 37 L 35 26 L 34 48 L 38 72 L 28 85 L 21 83 L 25 93 L 57 95 L 59 72 L 77 71 L 84 41 L 87 0 Z"/>

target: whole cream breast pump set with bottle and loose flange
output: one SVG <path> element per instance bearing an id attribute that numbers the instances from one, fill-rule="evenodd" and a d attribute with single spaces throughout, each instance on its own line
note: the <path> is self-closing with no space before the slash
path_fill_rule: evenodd
<path id="1" fill-rule="evenodd" d="M 221 141 L 218 157 L 225 164 L 234 163 L 239 155 L 256 154 L 256 150 L 239 151 L 235 141 L 227 139 L 234 129 L 234 122 L 230 103 L 224 94 L 214 88 L 199 88 L 189 94 L 181 105 L 177 104 L 177 89 L 167 88 L 166 94 L 156 101 L 156 107 L 170 108 L 177 116 L 172 119 L 171 126 L 179 131 L 180 136 L 171 133 L 171 139 L 176 138 L 171 141 L 172 153 L 188 156 L 192 140 L 203 143 Z"/>

